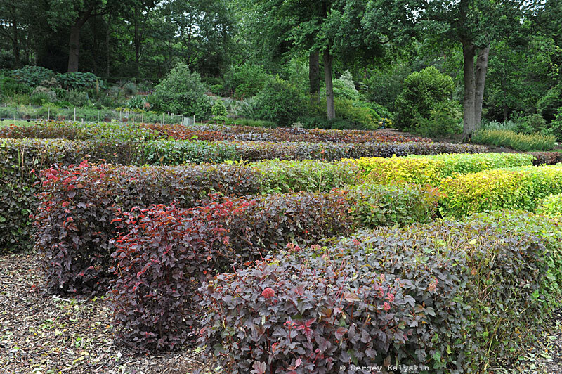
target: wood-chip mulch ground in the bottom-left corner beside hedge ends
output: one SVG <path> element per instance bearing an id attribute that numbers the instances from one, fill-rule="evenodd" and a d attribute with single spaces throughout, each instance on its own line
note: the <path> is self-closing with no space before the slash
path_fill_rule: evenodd
<path id="1" fill-rule="evenodd" d="M 195 351 L 133 355 L 114 342 L 107 298 L 42 295 L 32 255 L 0 257 L 0 374 L 192 373 L 203 368 Z"/>

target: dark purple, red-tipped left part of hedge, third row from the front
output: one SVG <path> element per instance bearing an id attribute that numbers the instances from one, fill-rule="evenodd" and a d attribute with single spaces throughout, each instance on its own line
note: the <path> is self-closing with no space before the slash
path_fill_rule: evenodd
<path id="1" fill-rule="evenodd" d="M 235 165 L 117 167 L 82 162 L 48 169 L 35 217 L 47 287 L 63 293 L 105 290 L 119 209 L 171 202 L 189 208 L 211 192 L 257 193 L 258 177 L 252 169 Z"/>

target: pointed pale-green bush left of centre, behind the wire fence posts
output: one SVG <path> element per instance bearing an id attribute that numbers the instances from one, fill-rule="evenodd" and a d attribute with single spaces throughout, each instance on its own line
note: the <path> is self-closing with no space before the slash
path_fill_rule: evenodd
<path id="1" fill-rule="evenodd" d="M 199 120 L 211 116 L 212 99 L 205 95 L 206 88 L 197 72 L 191 72 L 185 64 L 179 63 L 170 74 L 155 87 L 150 104 L 157 110 L 188 115 Z"/>

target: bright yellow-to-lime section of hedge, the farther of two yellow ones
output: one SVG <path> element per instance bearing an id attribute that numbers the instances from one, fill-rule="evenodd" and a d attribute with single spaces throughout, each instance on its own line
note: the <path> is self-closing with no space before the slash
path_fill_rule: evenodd
<path id="1" fill-rule="evenodd" d="M 482 153 L 476 155 L 434 155 L 408 157 L 370 157 L 355 162 L 368 179 L 377 183 L 407 182 L 438 186 L 453 174 L 481 172 L 487 169 L 532 165 L 533 155 L 523 153 Z"/>

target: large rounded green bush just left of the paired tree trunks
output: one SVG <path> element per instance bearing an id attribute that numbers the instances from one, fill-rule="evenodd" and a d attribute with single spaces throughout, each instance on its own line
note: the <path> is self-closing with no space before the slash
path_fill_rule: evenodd
<path id="1" fill-rule="evenodd" d="M 400 130 L 415 129 L 417 119 L 429 119 L 432 110 L 447 105 L 453 89 L 451 77 L 441 74 L 433 66 L 408 75 L 403 91 L 394 103 L 396 127 Z"/>

